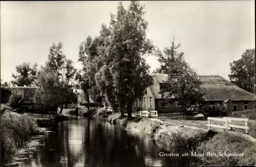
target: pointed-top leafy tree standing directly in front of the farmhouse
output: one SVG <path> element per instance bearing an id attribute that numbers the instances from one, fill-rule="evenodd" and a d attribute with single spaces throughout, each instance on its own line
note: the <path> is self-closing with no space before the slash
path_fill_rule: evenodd
<path id="1" fill-rule="evenodd" d="M 157 71 L 166 70 L 168 79 L 164 83 L 163 89 L 159 91 L 163 98 L 169 99 L 175 96 L 183 102 L 184 110 L 188 107 L 188 102 L 199 102 L 202 100 L 201 81 L 197 77 L 194 69 L 190 68 L 183 58 L 183 52 L 178 52 L 179 45 L 165 47 L 163 53 L 158 50 L 158 61 L 161 66 Z"/>

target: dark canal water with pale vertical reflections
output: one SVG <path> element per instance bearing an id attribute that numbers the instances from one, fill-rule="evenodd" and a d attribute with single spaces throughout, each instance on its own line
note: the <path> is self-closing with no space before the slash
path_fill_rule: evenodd
<path id="1" fill-rule="evenodd" d="M 178 153 L 157 145 L 142 134 L 126 132 L 106 121 L 59 122 L 36 136 L 13 158 L 16 166 L 188 166 L 189 157 L 161 157 Z"/>

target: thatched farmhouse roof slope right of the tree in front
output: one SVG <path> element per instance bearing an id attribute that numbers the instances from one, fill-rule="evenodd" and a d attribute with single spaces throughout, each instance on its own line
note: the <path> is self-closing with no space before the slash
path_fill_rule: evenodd
<path id="1" fill-rule="evenodd" d="M 219 75 L 200 75 L 203 82 L 201 89 L 205 93 L 206 101 L 255 101 L 255 96 L 242 88 L 232 84 L 227 79 Z"/>

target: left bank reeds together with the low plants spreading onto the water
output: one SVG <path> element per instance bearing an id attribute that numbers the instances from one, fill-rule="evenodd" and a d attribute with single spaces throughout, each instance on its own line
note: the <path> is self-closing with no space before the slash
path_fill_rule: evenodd
<path id="1" fill-rule="evenodd" d="M 49 115 L 25 113 L 18 114 L 11 107 L 1 104 L 1 164 L 11 160 L 16 150 L 26 146 L 33 135 L 45 135 L 40 126 L 67 120 L 59 114 L 54 118 Z"/>

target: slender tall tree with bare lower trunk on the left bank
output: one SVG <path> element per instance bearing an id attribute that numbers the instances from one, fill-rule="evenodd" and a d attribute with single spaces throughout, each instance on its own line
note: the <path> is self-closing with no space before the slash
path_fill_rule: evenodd
<path id="1" fill-rule="evenodd" d="M 63 45 L 59 42 L 50 47 L 50 53 L 46 62 L 46 67 L 51 69 L 58 75 L 59 79 L 59 93 L 60 93 L 60 113 L 62 113 L 63 104 L 65 101 L 69 101 L 70 93 L 73 92 L 73 86 L 75 81 L 76 69 L 73 66 L 73 61 L 67 59 L 66 55 L 62 52 Z"/>

